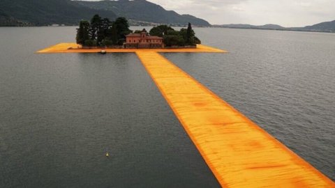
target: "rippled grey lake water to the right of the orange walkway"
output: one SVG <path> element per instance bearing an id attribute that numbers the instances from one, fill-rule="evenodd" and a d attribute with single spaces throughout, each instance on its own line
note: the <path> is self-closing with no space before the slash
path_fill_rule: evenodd
<path id="1" fill-rule="evenodd" d="M 230 53 L 165 57 L 335 180 L 335 33 L 196 33 Z"/>

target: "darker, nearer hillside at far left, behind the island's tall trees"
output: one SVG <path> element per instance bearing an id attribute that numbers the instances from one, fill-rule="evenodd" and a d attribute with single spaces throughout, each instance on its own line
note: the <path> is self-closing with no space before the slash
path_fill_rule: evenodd
<path id="1" fill-rule="evenodd" d="M 96 13 L 110 19 L 116 17 L 111 11 L 98 11 L 70 0 L 1 0 L 0 8 L 3 26 L 6 22 L 13 26 L 20 25 L 15 22 L 34 25 L 78 24 L 80 19 L 90 19 Z"/>

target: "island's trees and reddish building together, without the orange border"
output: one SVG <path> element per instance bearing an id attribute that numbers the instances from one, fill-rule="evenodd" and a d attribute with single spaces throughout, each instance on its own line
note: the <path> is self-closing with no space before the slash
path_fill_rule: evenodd
<path id="1" fill-rule="evenodd" d="M 131 31 L 128 20 L 118 17 L 114 22 L 108 18 L 94 15 L 91 22 L 80 21 L 76 36 L 80 48 L 196 48 L 200 40 L 195 36 L 191 23 L 187 29 L 175 31 L 167 25 L 155 26 L 149 33 Z"/>

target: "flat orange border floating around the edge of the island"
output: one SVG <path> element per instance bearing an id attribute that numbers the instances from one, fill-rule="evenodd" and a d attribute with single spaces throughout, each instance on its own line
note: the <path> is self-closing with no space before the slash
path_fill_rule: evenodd
<path id="1" fill-rule="evenodd" d="M 73 49 L 68 49 L 72 47 Z M 48 54 L 48 53 L 98 53 L 102 49 L 77 49 L 78 46 L 75 43 L 59 43 L 45 49 L 41 49 L 37 53 Z M 205 45 L 197 45 L 197 48 L 184 48 L 184 49 L 103 49 L 107 53 L 119 53 L 119 52 L 225 52 L 221 49 L 216 49 L 214 47 L 208 47 Z"/>

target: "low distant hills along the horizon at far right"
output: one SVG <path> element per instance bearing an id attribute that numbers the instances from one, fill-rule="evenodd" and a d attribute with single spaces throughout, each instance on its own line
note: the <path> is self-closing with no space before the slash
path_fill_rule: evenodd
<path id="1" fill-rule="evenodd" d="M 322 22 L 312 26 L 304 27 L 283 27 L 276 24 L 265 24 L 262 26 L 255 26 L 251 24 L 223 24 L 213 25 L 214 27 L 236 28 L 236 29 L 270 29 L 283 31 L 320 31 L 320 32 L 335 32 L 335 20 L 332 22 Z"/>

